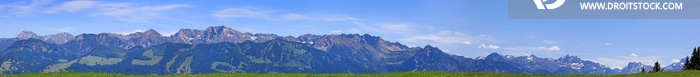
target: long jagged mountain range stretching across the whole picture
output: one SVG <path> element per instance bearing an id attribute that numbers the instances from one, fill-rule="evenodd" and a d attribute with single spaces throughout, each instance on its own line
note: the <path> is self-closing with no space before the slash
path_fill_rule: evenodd
<path id="1" fill-rule="evenodd" d="M 163 36 L 150 29 L 127 35 L 69 33 L 38 36 L 22 31 L 0 38 L 0 73 L 106 72 L 200 73 L 386 73 L 498 72 L 524 74 L 629 74 L 651 66 L 630 62 L 611 69 L 566 55 L 540 58 L 491 53 L 466 58 L 430 45 L 408 47 L 369 34 L 297 37 L 242 33 L 225 26 L 181 29 Z M 679 71 L 684 61 L 664 67 Z"/>

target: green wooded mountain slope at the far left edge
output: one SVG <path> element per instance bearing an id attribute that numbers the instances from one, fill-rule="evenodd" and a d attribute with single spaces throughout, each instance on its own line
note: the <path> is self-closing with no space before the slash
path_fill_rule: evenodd
<path id="1" fill-rule="evenodd" d="M 73 60 L 76 56 L 61 45 L 29 38 L 14 42 L 0 53 L 3 62 L 0 71 L 10 74 L 41 72 L 48 65 Z"/>

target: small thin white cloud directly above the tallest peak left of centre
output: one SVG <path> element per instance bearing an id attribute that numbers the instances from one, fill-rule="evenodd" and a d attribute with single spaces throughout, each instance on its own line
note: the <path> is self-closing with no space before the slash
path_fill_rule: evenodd
<path id="1" fill-rule="evenodd" d="M 242 7 L 242 8 L 225 8 L 213 11 L 211 16 L 217 18 L 241 18 L 241 17 L 267 17 L 267 13 L 271 11 L 258 8 Z"/>

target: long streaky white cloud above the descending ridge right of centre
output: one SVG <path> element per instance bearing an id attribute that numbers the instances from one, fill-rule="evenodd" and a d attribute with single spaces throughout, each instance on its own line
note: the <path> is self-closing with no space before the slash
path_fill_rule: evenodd
<path id="1" fill-rule="evenodd" d="M 483 44 L 498 41 L 488 35 L 469 35 L 467 33 L 438 30 L 430 26 L 415 25 L 412 23 L 380 23 L 374 25 L 367 25 L 359 21 L 353 21 L 352 23 L 359 28 L 351 28 L 348 30 L 349 33 L 372 33 L 399 36 L 399 41 L 407 45 L 435 45 L 445 47 L 444 45 L 471 45 L 474 43 Z M 426 34 L 417 32 L 435 33 Z M 492 47 L 495 48 L 496 45 Z M 501 47 L 498 46 L 498 49 L 500 48 Z"/>

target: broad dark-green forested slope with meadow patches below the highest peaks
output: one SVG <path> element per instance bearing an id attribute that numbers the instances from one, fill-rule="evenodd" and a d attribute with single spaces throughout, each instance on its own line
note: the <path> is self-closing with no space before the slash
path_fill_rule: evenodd
<path id="1" fill-rule="evenodd" d="M 109 54 L 97 54 L 97 52 L 105 53 L 105 51 L 115 50 L 128 52 L 128 54 L 125 56 L 112 54 L 112 57 Z M 129 51 L 120 51 L 119 48 L 97 48 L 89 56 L 81 57 L 78 61 L 89 60 L 86 58 L 116 58 L 121 60 L 111 64 L 96 62 L 97 65 L 75 63 L 65 68 L 65 70 L 131 74 L 382 72 L 367 68 L 357 68 L 367 64 L 353 63 L 345 57 L 285 40 L 272 40 L 263 43 L 243 42 L 239 44 L 212 43 L 194 46 L 166 43 Z"/>

